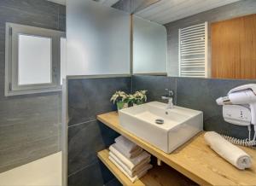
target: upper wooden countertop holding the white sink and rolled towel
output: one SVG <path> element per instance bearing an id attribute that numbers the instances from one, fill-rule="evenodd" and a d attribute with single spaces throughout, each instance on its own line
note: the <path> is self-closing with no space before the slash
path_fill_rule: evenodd
<path id="1" fill-rule="evenodd" d="M 166 154 L 143 139 L 125 131 L 119 125 L 117 112 L 103 113 L 98 115 L 97 119 L 195 183 L 201 185 L 255 185 L 256 183 L 256 151 L 252 148 L 241 147 L 252 157 L 253 166 L 251 169 L 240 171 L 207 146 L 203 139 L 203 132 L 177 148 L 172 154 Z"/>

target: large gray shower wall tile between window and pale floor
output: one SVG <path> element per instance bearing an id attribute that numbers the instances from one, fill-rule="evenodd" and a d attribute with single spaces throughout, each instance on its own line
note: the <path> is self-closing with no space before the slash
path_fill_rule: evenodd
<path id="1" fill-rule="evenodd" d="M 0 149 L 4 160 L 0 171 L 60 150 L 60 99 L 60 96 L 33 96 L 0 102 Z"/>

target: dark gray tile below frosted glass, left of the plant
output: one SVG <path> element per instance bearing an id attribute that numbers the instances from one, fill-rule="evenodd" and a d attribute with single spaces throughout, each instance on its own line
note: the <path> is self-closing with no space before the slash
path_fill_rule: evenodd
<path id="1" fill-rule="evenodd" d="M 116 90 L 131 91 L 131 78 L 83 78 L 68 80 L 69 124 L 96 119 L 113 110 L 110 98 Z"/>

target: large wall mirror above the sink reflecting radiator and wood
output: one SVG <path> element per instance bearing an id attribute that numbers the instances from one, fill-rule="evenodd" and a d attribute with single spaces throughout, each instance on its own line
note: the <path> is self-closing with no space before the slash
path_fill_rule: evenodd
<path id="1" fill-rule="evenodd" d="M 256 1 L 161 0 L 133 15 L 133 73 L 256 78 Z"/>

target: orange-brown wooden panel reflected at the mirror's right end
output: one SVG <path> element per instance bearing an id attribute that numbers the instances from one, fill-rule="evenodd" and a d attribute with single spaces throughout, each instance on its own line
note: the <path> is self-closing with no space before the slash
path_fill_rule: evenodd
<path id="1" fill-rule="evenodd" d="M 211 25 L 212 78 L 256 78 L 256 15 Z"/>

